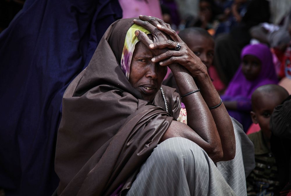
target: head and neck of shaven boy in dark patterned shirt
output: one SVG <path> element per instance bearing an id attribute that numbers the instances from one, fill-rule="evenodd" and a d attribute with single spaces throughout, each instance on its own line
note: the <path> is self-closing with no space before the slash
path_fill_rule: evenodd
<path id="1" fill-rule="evenodd" d="M 260 96 L 255 99 L 255 107 L 251 111 L 251 117 L 253 123 L 259 124 L 263 132 L 263 135 L 270 139 L 270 117 L 274 111 L 274 108 L 281 104 L 281 96 L 269 94 L 260 94 Z"/>

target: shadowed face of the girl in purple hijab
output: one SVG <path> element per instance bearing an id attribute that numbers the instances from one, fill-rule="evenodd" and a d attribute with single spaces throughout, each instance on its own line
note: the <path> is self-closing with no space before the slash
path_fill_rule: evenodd
<path id="1" fill-rule="evenodd" d="M 242 59 L 242 72 L 247 80 L 253 81 L 260 74 L 262 63 L 253 55 L 246 55 Z"/>

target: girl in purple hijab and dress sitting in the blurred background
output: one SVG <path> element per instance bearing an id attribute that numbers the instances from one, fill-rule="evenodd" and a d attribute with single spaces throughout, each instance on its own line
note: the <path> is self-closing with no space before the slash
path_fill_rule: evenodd
<path id="1" fill-rule="evenodd" d="M 229 115 L 239 121 L 244 131 L 251 125 L 251 95 L 259 86 L 277 84 L 270 49 L 265 44 L 247 45 L 242 49 L 241 66 L 221 96 Z"/>

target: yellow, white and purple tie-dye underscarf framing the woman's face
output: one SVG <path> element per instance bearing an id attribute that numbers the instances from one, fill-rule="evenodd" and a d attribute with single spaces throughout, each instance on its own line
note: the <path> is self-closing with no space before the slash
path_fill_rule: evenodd
<path id="1" fill-rule="evenodd" d="M 135 44 L 139 42 L 139 39 L 134 34 L 136 30 L 142 31 L 145 34 L 150 34 L 150 31 L 136 24 L 133 24 L 128 29 L 125 36 L 124 47 L 123 47 L 121 61 L 120 61 L 120 67 L 127 79 L 129 79 L 130 64 L 131 64 L 131 59 L 134 52 Z"/>

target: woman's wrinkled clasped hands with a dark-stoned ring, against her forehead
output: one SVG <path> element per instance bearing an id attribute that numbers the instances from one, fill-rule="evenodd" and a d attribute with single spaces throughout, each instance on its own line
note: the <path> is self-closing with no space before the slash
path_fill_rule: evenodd
<path id="1" fill-rule="evenodd" d="M 172 49 L 164 51 L 162 54 L 152 58 L 153 62 L 159 62 L 162 66 L 170 66 L 178 63 L 185 67 L 193 77 L 198 76 L 202 72 L 207 72 L 207 68 L 200 58 L 189 49 L 169 24 L 156 17 L 139 16 L 139 18 L 140 20 L 134 20 L 134 23 L 152 32 L 154 41 L 145 41 L 147 36 L 145 38 L 145 33 L 141 31 L 139 31 L 139 35 L 137 35 L 139 40 L 144 44 L 149 44 L 150 49 Z M 164 33 L 170 36 L 172 40 L 168 39 Z M 179 51 L 173 50 L 177 46 L 177 43 L 181 45 Z"/>

